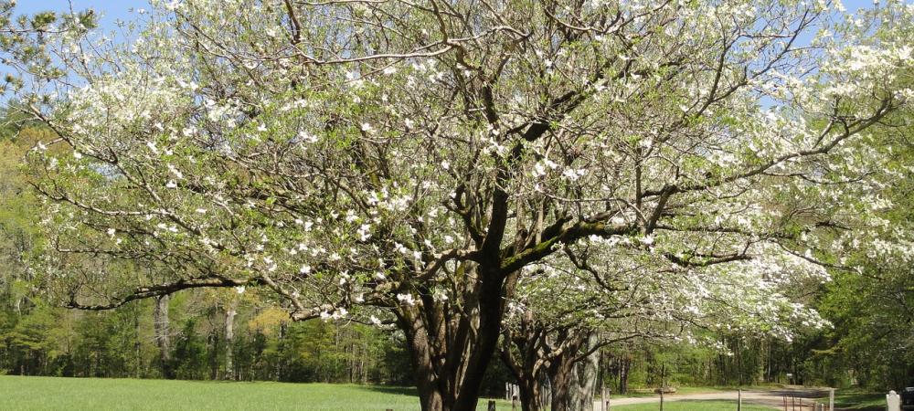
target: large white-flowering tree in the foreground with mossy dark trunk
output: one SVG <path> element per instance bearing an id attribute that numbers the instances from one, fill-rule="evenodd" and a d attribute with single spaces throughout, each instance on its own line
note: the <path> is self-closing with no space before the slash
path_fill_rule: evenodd
<path id="1" fill-rule="evenodd" d="M 46 58 L 10 54 L 69 146 L 32 156 L 47 258 L 169 270 L 74 259 L 48 264 L 48 287 L 83 309 L 235 287 L 295 320 L 393 321 L 429 410 L 473 409 L 518 282 L 560 250 L 753 281 L 839 264 L 824 251 L 871 238 L 879 206 L 853 184 L 876 152 L 851 142 L 911 98 L 898 2 L 812 46 L 835 5 L 152 8 L 126 33 L 52 25 L 29 44 Z"/>

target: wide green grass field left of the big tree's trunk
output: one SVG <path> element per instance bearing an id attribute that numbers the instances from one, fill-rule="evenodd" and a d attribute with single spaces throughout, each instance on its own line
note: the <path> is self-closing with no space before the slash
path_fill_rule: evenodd
<path id="1" fill-rule="evenodd" d="M 478 409 L 484 410 L 485 400 Z M 498 409 L 511 409 L 498 402 Z M 403 387 L 0 375 L 0 410 L 419 410 Z"/>

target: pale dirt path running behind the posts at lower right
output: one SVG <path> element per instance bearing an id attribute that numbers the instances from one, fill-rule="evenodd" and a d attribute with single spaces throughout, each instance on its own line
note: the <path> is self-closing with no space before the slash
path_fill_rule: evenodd
<path id="1" fill-rule="evenodd" d="M 664 402 L 667 401 L 708 401 L 708 400 L 723 400 L 723 401 L 733 401 L 736 403 L 737 396 L 739 394 L 736 391 L 722 391 L 719 393 L 707 393 L 707 394 L 682 394 L 682 395 L 664 395 Z M 777 408 L 783 408 L 784 406 L 784 395 L 787 395 L 787 409 L 800 410 L 800 400 L 802 400 L 802 410 L 812 410 L 813 403 L 824 403 L 828 404 L 828 392 L 824 390 L 816 389 L 794 389 L 786 388 L 780 390 L 771 390 L 771 391 L 761 391 L 761 390 L 746 390 L 742 392 L 742 398 L 744 404 L 759 404 L 763 406 L 774 406 Z M 795 398 L 795 407 L 791 407 L 791 398 Z M 632 404 L 651 404 L 659 403 L 660 395 L 649 396 L 649 397 L 636 397 L 636 398 L 612 398 L 610 401 L 611 406 L 628 406 Z M 596 402 L 594 409 L 600 409 L 600 402 Z"/>

